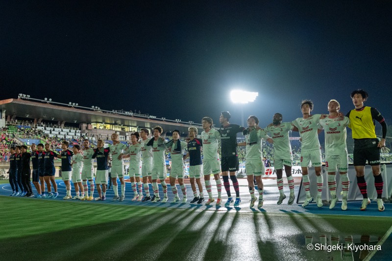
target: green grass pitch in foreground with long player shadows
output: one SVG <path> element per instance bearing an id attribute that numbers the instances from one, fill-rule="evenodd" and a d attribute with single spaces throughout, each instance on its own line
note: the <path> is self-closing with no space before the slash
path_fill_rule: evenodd
<path id="1" fill-rule="evenodd" d="M 1 260 L 310 260 L 305 235 L 385 235 L 391 219 L 0 196 Z M 341 242 L 342 242 L 341 240 Z M 387 251 L 387 250 L 385 250 Z M 329 255 L 329 256 L 328 256 Z"/>

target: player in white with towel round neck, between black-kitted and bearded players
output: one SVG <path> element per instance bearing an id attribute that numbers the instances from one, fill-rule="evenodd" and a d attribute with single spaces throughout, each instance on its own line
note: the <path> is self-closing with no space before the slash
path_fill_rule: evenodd
<path id="1" fill-rule="evenodd" d="M 257 201 L 257 197 L 254 195 L 254 183 L 253 177 L 256 177 L 256 183 L 259 192 L 259 204 L 257 208 L 262 208 L 264 203 L 263 193 L 264 193 L 264 185 L 261 180 L 261 176 L 264 174 L 264 164 L 263 164 L 263 155 L 262 155 L 262 143 L 261 140 L 265 139 L 272 143 L 272 139 L 267 135 L 266 131 L 263 129 L 256 129 L 259 125 L 259 119 L 250 115 L 248 120 L 248 128 L 243 131 L 245 135 L 245 142 L 238 143 L 238 146 L 246 146 L 245 149 L 245 171 L 246 178 L 248 180 L 248 187 L 250 193 L 250 205 L 249 208 L 253 208 L 255 202 Z"/>

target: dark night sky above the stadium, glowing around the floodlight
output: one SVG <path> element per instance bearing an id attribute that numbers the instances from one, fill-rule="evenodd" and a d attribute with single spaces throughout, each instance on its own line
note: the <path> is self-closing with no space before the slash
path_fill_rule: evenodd
<path id="1" fill-rule="evenodd" d="M 392 1 L 0 1 L 0 100 L 51 98 L 265 127 L 351 91 L 392 119 Z M 232 104 L 229 91 L 259 92 Z M 388 122 L 388 121 L 387 121 Z"/>

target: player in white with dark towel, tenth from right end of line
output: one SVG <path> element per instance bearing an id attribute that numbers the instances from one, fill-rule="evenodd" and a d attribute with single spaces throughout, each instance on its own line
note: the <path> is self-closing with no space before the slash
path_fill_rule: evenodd
<path id="1" fill-rule="evenodd" d="M 163 199 L 162 203 L 165 203 L 169 200 L 168 198 L 168 185 L 165 182 L 166 179 L 166 160 L 165 160 L 165 152 L 166 152 L 166 142 L 165 139 L 160 137 L 163 132 L 162 127 L 156 126 L 153 129 L 153 137 L 148 141 L 146 146 L 152 147 L 152 171 L 151 171 L 151 179 L 152 179 L 152 189 L 154 190 L 154 196 L 151 199 L 152 203 L 156 203 L 161 201 L 159 197 L 159 190 L 157 180 L 159 178 L 162 190 L 163 190 Z"/>

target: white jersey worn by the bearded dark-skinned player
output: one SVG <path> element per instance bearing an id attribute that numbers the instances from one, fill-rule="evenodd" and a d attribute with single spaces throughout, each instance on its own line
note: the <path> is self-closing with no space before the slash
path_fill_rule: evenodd
<path id="1" fill-rule="evenodd" d="M 290 122 L 282 122 L 278 126 L 270 125 L 265 130 L 273 139 L 273 150 L 276 156 L 292 155 L 289 131 L 294 126 Z"/>

